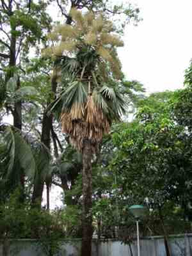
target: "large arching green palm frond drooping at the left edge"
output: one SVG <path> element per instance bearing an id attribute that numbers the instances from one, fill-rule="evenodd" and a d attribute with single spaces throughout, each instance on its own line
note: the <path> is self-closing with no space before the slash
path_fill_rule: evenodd
<path id="1" fill-rule="evenodd" d="M 21 133 L 10 126 L 1 126 L 1 145 L 6 151 L 3 160 L 4 168 L 1 177 L 19 182 L 20 174 L 24 173 L 30 180 L 45 179 L 51 155 L 40 141 Z M 2 157 L 2 156 L 1 156 Z"/>

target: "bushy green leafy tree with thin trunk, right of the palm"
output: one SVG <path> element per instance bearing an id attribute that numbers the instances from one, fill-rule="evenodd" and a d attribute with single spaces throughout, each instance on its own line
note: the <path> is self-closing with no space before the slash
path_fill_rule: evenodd
<path id="1" fill-rule="evenodd" d="M 185 127 L 175 122 L 174 100 L 173 92 L 154 93 L 141 100 L 137 119 L 113 134 L 116 158 L 111 164 L 119 173 L 122 195 L 133 203 L 146 201 L 157 211 L 168 256 L 168 216 L 163 209 L 170 202 L 183 209 L 184 198 L 185 205 L 189 204 L 186 180 L 191 180 L 191 138 Z"/>

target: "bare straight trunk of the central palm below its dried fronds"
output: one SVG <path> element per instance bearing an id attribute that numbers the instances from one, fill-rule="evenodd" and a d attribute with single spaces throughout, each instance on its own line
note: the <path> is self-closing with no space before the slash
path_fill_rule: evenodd
<path id="1" fill-rule="evenodd" d="M 83 209 L 82 228 L 83 237 L 81 256 L 92 255 L 92 144 L 89 140 L 84 141 L 83 148 Z"/>

